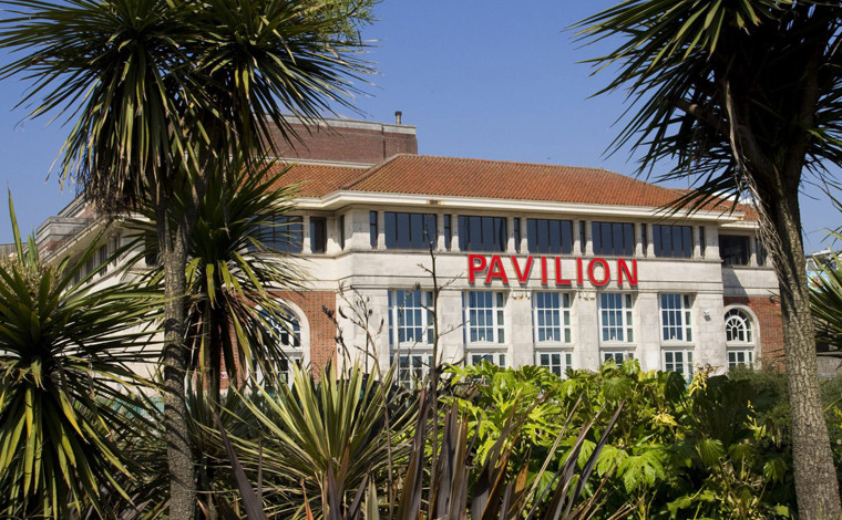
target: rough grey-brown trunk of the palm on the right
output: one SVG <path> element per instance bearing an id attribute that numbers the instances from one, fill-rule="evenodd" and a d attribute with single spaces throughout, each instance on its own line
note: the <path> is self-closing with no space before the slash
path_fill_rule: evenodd
<path id="1" fill-rule="evenodd" d="M 770 253 L 781 297 L 799 518 L 836 520 L 842 511 L 819 388 L 798 187 L 774 191 L 774 197 L 762 197 L 762 209 L 776 239 Z"/>

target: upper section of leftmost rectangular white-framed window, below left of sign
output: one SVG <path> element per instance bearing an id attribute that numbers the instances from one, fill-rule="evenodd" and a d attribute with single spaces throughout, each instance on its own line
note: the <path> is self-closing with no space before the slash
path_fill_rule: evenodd
<path id="1" fill-rule="evenodd" d="M 392 346 L 433 343 L 432 291 L 389 291 L 389 344 Z"/>

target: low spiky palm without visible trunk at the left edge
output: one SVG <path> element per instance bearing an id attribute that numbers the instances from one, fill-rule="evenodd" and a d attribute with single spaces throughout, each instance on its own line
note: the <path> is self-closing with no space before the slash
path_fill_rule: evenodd
<path id="1" fill-rule="evenodd" d="M 124 492 L 117 479 L 137 469 L 115 433 L 152 427 L 133 413 L 127 391 L 146 383 L 127 364 L 153 358 L 138 327 L 160 302 L 140 285 L 92 289 L 95 271 L 74 281 L 96 240 L 76 264 L 43 263 L 13 215 L 16 254 L 0 259 L 0 516 L 104 516 L 101 490 Z"/>

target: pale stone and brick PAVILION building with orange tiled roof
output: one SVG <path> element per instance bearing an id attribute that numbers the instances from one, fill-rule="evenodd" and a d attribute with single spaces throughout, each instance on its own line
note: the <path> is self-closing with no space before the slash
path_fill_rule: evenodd
<path id="1" fill-rule="evenodd" d="M 666 216 L 680 191 L 605 169 L 418 155 L 415 128 L 400 122 L 333 119 L 299 135 L 285 157 L 300 197 L 275 243 L 311 278 L 305 293 L 278 294 L 294 358 L 324 365 L 338 333 L 362 358 L 366 331 L 336 313 L 359 295 L 379 363 L 422 374 L 433 261 L 446 285 L 444 362 L 561 374 L 634 357 L 689 376 L 782 352 L 778 282 L 749 208 Z M 39 228 L 38 245 L 64 256 L 97 222 L 76 201 Z"/>

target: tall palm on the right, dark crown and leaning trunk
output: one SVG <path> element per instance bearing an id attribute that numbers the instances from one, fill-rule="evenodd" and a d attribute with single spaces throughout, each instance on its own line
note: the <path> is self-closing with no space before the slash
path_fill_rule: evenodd
<path id="1" fill-rule="evenodd" d="M 578 23 L 593 60 L 632 107 L 615 148 L 660 159 L 664 179 L 691 178 L 678 205 L 748 191 L 778 274 L 801 518 L 840 518 L 839 486 L 817 379 L 799 188 L 842 164 L 840 2 L 628 0 Z M 616 38 L 616 40 L 614 40 Z"/>

